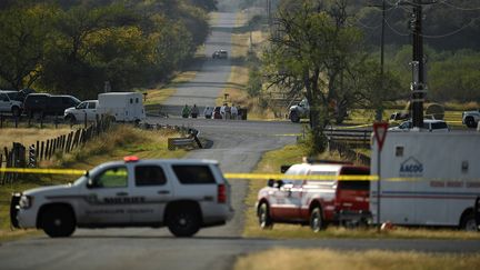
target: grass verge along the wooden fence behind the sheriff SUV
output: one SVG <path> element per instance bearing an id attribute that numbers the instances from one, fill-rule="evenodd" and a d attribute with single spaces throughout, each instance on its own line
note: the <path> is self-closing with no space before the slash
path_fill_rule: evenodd
<path id="1" fill-rule="evenodd" d="M 184 156 L 186 150 L 168 150 L 168 138 L 178 136 L 171 130 L 140 130 L 131 126 L 118 124 L 86 147 L 64 156 L 58 154 L 51 161 L 42 161 L 40 167 L 88 170 L 106 161 L 121 160 L 122 157 L 129 154 L 136 154 L 141 159 L 180 158 Z M 76 176 L 22 174 L 17 181 L 2 186 L 0 189 L 0 239 L 34 233 L 30 230 L 10 231 L 9 203 L 12 192 L 67 183 L 76 179 Z"/>

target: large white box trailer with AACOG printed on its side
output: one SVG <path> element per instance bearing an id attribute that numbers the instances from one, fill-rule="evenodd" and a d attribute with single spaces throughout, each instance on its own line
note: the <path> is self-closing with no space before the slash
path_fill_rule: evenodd
<path id="1" fill-rule="evenodd" d="M 373 140 L 371 173 L 378 172 Z M 380 158 L 380 222 L 477 229 L 480 133 L 388 132 Z M 377 181 L 370 210 L 377 222 Z"/>

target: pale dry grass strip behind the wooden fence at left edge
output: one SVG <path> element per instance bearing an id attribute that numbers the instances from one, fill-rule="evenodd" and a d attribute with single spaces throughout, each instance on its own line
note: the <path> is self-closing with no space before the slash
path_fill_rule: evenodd
<path id="1" fill-rule="evenodd" d="M 59 129 L 53 128 L 4 128 L 0 129 L 0 149 L 11 148 L 12 142 L 20 142 L 23 146 L 31 146 L 37 141 L 57 138 L 61 134 L 71 132 L 70 127 L 62 126 Z"/>

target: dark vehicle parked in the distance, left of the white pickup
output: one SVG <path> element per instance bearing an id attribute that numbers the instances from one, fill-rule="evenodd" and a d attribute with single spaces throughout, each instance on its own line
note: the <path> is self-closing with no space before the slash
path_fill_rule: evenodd
<path id="1" fill-rule="evenodd" d="M 23 112 L 28 117 L 63 116 L 67 108 L 77 107 L 80 102 L 68 94 L 30 93 L 23 101 Z"/>

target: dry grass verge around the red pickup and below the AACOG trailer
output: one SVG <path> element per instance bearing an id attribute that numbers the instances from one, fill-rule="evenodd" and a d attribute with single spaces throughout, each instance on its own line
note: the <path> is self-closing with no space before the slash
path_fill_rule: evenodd
<path id="1" fill-rule="evenodd" d="M 280 150 L 269 151 L 263 154 L 254 172 L 258 173 L 279 173 L 280 166 L 299 163 L 301 157 L 306 156 L 303 147 L 300 144 L 287 146 Z M 337 152 L 324 152 L 319 159 L 341 160 Z M 378 233 L 371 229 L 346 229 L 342 227 L 330 226 L 327 230 L 314 233 L 309 227 L 300 224 L 276 223 L 272 230 L 261 230 L 258 226 L 254 203 L 257 202 L 258 191 L 266 187 L 267 181 L 252 180 L 246 198 L 246 223 L 243 236 L 249 238 L 274 238 L 274 239 L 320 239 L 320 238 L 398 238 L 398 239 L 480 239 L 478 232 L 459 231 L 454 229 L 426 229 L 426 228 L 403 228 L 396 227 L 394 230 Z"/>

